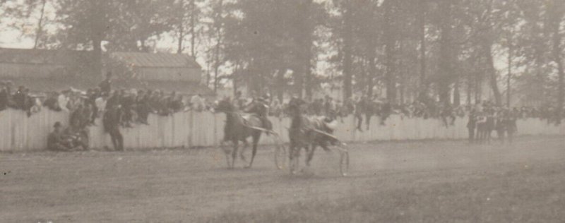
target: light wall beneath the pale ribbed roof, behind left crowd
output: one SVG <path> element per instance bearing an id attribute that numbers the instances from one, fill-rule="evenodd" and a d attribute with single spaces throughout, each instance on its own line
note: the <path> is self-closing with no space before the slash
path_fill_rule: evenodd
<path id="1" fill-rule="evenodd" d="M 200 83 L 202 72 L 195 68 L 136 68 L 142 80 L 184 80 Z"/>

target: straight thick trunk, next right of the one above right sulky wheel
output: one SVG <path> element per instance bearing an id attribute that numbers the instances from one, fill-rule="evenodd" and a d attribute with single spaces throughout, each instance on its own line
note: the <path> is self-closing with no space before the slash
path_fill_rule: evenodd
<path id="1" fill-rule="evenodd" d="M 396 76 L 395 76 L 395 64 L 394 64 L 394 52 L 396 48 L 396 40 L 393 33 L 395 28 L 393 28 L 393 4 L 396 0 L 385 0 L 383 6 L 385 8 L 384 13 L 384 42 L 385 42 L 385 55 L 386 55 L 386 70 L 385 70 L 385 82 L 386 82 L 386 98 L 388 102 L 396 101 Z"/>

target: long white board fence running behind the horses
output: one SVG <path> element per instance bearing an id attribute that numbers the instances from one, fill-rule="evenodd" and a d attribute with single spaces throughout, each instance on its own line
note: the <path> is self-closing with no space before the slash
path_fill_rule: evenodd
<path id="1" fill-rule="evenodd" d="M 47 144 L 47 135 L 55 121 L 68 123 L 69 114 L 44 109 L 28 117 L 23 111 L 12 109 L 0 111 L 0 151 L 42 150 Z M 210 112 L 181 112 L 172 116 L 149 116 L 149 125 L 139 124 L 123 128 L 124 145 L 129 149 L 156 147 L 214 146 L 223 137 L 225 116 Z M 288 140 L 289 119 L 272 118 L 273 129 Z M 369 131 L 355 131 L 356 120 L 349 116 L 338 125 L 335 135 L 347 142 L 374 140 L 422 140 L 463 139 L 468 137 L 466 119 L 457 119 L 454 126 L 446 128 L 437 119 L 420 119 L 393 115 L 386 126 L 379 125 L 379 118 L 371 119 Z M 518 135 L 565 135 L 565 125 L 548 125 L 540 119 L 518 120 Z M 363 123 L 363 128 L 365 125 Z M 261 143 L 272 143 L 272 138 L 263 136 Z M 90 147 L 112 147 L 109 135 L 105 134 L 101 120 L 90 127 Z"/>

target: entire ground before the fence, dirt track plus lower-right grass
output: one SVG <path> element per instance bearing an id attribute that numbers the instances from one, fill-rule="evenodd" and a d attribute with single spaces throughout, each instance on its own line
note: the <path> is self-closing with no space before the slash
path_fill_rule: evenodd
<path id="1" fill-rule="evenodd" d="M 270 148 L 252 169 L 211 148 L 1 153 L 0 222 L 565 220 L 565 138 L 350 147 L 347 177 L 323 150 L 300 176 L 275 169 Z"/>

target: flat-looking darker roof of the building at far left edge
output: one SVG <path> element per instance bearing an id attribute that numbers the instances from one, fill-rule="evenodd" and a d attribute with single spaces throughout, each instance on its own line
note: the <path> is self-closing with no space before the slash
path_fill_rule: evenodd
<path id="1" fill-rule="evenodd" d="M 76 66 L 88 63 L 92 52 L 66 49 L 13 49 L 0 47 L 0 63 Z"/>

